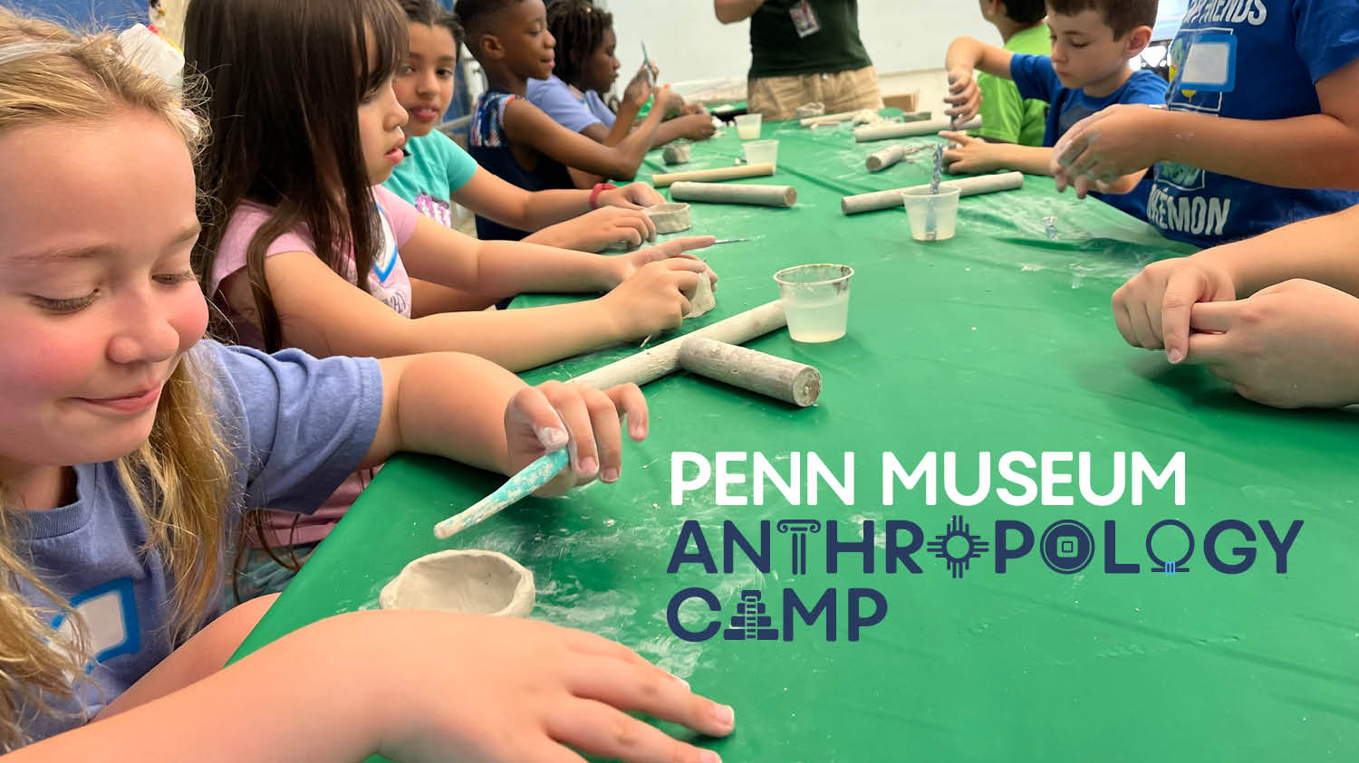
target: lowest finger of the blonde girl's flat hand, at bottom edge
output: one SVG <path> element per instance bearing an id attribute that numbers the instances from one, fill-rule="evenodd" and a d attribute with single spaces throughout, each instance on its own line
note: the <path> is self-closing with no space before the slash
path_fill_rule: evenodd
<path id="1" fill-rule="evenodd" d="M 716 753 L 685 744 L 605 703 L 576 701 L 546 718 L 548 734 L 590 755 L 629 763 L 716 763 Z"/>

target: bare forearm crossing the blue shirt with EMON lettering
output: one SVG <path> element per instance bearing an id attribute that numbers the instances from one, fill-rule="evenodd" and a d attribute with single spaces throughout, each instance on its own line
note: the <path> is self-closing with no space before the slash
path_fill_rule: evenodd
<path id="1" fill-rule="evenodd" d="M 1326 114 L 1227 119 L 1162 111 L 1158 122 L 1148 134 L 1162 160 L 1271 186 L 1359 189 L 1359 128 Z"/>

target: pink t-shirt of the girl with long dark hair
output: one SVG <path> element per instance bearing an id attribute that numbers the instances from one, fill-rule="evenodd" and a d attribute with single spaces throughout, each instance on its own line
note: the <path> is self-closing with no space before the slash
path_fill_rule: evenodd
<path id="1" fill-rule="evenodd" d="M 368 293 L 382 300 L 391 310 L 410 318 L 410 277 L 406 276 L 405 265 L 401 263 L 401 255 L 397 250 L 410 240 L 420 213 L 416 212 L 414 206 L 410 206 L 381 186 L 374 186 L 372 196 L 378 204 L 379 217 L 382 219 L 382 244 L 379 247 L 382 254 L 374 259 L 372 270 L 368 273 Z M 212 273 L 208 280 L 208 291 L 213 301 L 227 315 L 227 319 L 231 320 L 239 343 L 257 349 L 264 349 L 264 334 L 241 312 L 232 310 L 217 289 L 222 286 L 222 281 L 246 266 L 246 247 L 250 244 L 250 238 L 269 219 L 272 212 L 272 208 L 251 201 L 245 201 L 236 208 L 222 236 L 222 246 L 217 247 L 217 257 L 213 259 Z M 265 257 L 273 257 L 285 251 L 310 251 L 315 254 L 315 246 L 306 227 L 275 239 L 265 250 Z M 357 267 L 353 263 L 353 250 L 351 248 L 347 254 L 344 277 L 351 284 L 355 284 L 359 276 Z M 364 470 L 351 474 L 344 485 L 326 500 L 325 505 L 310 516 L 289 512 L 269 512 L 266 523 L 269 543 L 273 546 L 287 546 L 321 540 L 330 532 L 334 523 L 344 516 L 345 510 L 349 509 L 375 472 L 376 470 Z"/>

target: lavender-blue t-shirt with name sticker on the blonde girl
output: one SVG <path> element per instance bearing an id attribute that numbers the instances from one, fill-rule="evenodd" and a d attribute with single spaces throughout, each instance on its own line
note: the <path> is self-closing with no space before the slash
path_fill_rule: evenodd
<path id="1" fill-rule="evenodd" d="M 299 350 L 270 357 L 211 341 L 192 353 L 216 383 L 217 413 L 238 464 L 232 500 L 222 508 L 230 512 L 228 532 L 243 509 L 315 510 L 368 451 L 382 413 L 378 361 L 317 360 Z M 147 525 L 114 464 L 82 464 L 75 472 L 73 504 L 27 512 L 16 529 L 15 551 L 31 555 L 33 569 L 75 607 L 95 650 L 76 696 L 49 698 L 73 717 L 23 718 L 33 741 L 83 725 L 174 649 L 167 634 L 173 581 L 159 553 L 140 551 Z M 20 592 L 53 608 L 23 582 Z"/>

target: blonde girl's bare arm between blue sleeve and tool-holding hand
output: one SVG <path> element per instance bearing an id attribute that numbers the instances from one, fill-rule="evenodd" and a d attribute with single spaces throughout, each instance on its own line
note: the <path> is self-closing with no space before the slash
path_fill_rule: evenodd
<path id="1" fill-rule="evenodd" d="M 410 451 L 510 471 L 504 410 L 525 386 L 518 376 L 466 353 L 424 353 L 383 358 L 382 386 L 382 421 L 363 466 Z"/>

